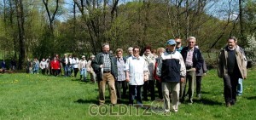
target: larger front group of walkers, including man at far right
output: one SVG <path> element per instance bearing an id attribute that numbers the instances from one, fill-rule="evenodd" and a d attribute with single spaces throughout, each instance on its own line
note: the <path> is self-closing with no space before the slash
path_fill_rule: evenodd
<path id="1" fill-rule="evenodd" d="M 159 98 L 164 100 L 165 111 L 177 112 L 178 105 L 185 101 L 193 104 L 195 83 L 196 96 L 201 99 L 201 78 L 207 72 L 205 60 L 195 37 L 187 38 L 186 47 L 182 47 L 181 43 L 180 38 L 170 39 L 166 48 L 157 49 L 156 54 L 148 46 L 143 49 L 142 56 L 142 49 L 138 46 L 130 47 L 129 54 L 123 56 L 123 49 L 116 49 L 115 54 L 111 54 L 109 44 L 104 43 L 102 52 L 96 54 L 91 63 L 98 80 L 99 104 L 105 103 L 106 84 L 113 106 L 122 103 L 127 89 L 129 104 L 133 105 L 136 100 L 138 105 L 143 106 L 149 92 L 151 100 L 155 100 L 154 86 L 158 89 Z M 218 77 L 224 78 L 227 106 L 236 103 L 238 78 L 247 77 L 245 54 L 236 43 L 236 37 L 230 37 L 218 60 Z"/>

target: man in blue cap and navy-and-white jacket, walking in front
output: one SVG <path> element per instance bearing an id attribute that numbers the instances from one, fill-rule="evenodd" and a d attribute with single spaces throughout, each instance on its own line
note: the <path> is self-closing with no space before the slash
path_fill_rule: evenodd
<path id="1" fill-rule="evenodd" d="M 177 112 L 180 83 L 184 82 L 186 68 L 183 56 L 175 50 L 176 42 L 171 39 L 167 41 L 166 52 L 160 54 L 157 66 L 157 76 L 162 82 L 162 92 L 164 96 L 165 111 Z M 170 108 L 170 97 L 172 94 L 172 108 Z"/>

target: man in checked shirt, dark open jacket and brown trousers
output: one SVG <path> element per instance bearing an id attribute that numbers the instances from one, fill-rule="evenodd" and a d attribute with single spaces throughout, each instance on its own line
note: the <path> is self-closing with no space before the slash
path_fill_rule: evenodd
<path id="1" fill-rule="evenodd" d="M 99 84 L 99 104 L 105 103 L 105 86 L 108 83 L 111 104 L 115 105 L 117 103 L 117 96 L 114 81 L 117 77 L 117 66 L 113 55 L 109 54 L 108 43 L 102 45 L 102 52 L 96 54 L 95 60 L 92 61 L 92 67 Z"/>

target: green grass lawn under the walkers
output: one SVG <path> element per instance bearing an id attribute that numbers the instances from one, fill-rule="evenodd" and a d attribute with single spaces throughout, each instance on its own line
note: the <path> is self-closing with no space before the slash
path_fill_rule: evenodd
<path id="1" fill-rule="evenodd" d="M 97 84 L 79 82 L 73 77 L 0 74 L 0 119 L 256 119 L 256 70 L 248 70 L 243 94 L 231 107 L 224 105 L 223 80 L 216 73 L 212 70 L 203 77 L 201 100 L 195 98 L 193 105 L 182 104 L 177 113 L 168 115 L 156 114 L 145 107 L 109 106 L 107 89 L 106 106 L 95 106 Z M 152 101 L 143 103 L 151 105 Z M 121 108 L 127 112 L 119 111 Z M 97 115 L 91 115 L 90 110 Z"/>

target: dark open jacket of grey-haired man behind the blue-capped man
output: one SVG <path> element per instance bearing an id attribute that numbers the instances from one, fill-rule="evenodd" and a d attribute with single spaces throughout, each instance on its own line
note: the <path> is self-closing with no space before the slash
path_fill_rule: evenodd
<path id="1" fill-rule="evenodd" d="M 181 54 L 183 55 L 184 63 L 186 63 L 188 51 L 189 51 L 189 47 L 185 47 L 181 51 Z M 194 47 L 194 53 L 193 53 L 192 61 L 193 61 L 193 66 L 192 67 L 195 67 L 196 72 L 199 72 L 199 70 L 201 69 L 201 66 L 203 64 L 203 58 L 201 56 L 200 50 L 196 49 L 195 47 Z"/>

